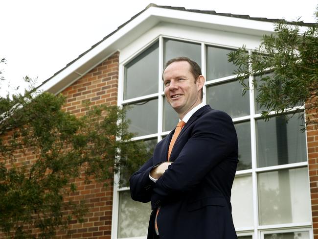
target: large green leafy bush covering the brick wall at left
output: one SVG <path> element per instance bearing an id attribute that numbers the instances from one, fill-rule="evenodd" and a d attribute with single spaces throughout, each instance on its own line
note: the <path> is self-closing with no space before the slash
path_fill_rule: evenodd
<path id="1" fill-rule="evenodd" d="M 136 170 L 145 159 L 145 145 L 130 141 L 124 111 L 100 106 L 76 118 L 64 103 L 34 89 L 0 98 L 0 229 L 8 238 L 34 238 L 34 229 L 51 238 L 81 221 L 85 201 L 68 197 L 75 178 L 112 183 L 120 167 Z"/>

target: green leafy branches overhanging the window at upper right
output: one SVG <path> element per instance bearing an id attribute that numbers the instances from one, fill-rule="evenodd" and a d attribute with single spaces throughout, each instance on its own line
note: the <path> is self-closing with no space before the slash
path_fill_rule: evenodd
<path id="1" fill-rule="evenodd" d="M 228 54 L 228 61 L 238 67 L 244 93 L 249 86 L 244 79 L 253 78 L 256 101 L 264 109 L 262 116 L 269 119 L 270 112 L 283 113 L 306 102 L 307 113 L 318 110 L 318 24 L 280 21 L 272 35 L 264 35 L 258 49 L 247 51 L 243 46 Z M 318 123 L 306 118 L 306 123 Z M 316 120 L 316 121 L 315 121 Z"/>

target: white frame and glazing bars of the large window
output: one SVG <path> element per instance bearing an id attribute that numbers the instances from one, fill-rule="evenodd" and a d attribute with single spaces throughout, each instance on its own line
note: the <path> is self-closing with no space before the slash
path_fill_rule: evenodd
<path id="1" fill-rule="evenodd" d="M 154 32 L 156 32 L 154 30 Z M 190 36 L 191 34 L 189 34 Z M 143 37 L 144 39 L 147 39 L 147 37 Z M 191 43 L 200 43 L 201 44 L 201 64 L 202 64 L 202 74 L 206 75 L 206 46 L 213 46 L 213 47 L 222 47 L 222 48 L 229 48 L 229 49 L 236 49 L 240 46 L 224 46 L 220 43 L 211 43 L 206 41 L 195 41 L 189 38 L 184 37 L 177 37 L 176 35 L 159 35 L 157 37 L 152 38 L 151 41 L 148 41 L 148 44 L 144 45 L 142 48 L 139 48 L 138 51 L 134 52 L 133 54 L 130 54 L 129 57 L 127 57 L 125 60 L 120 62 L 119 65 L 119 80 L 118 80 L 118 103 L 117 105 L 119 107 L 122 107 L 124 104 L 136 102 L 143 99 L 149 99 L 149 98 L 158 98 L 158 131 L 155 134 L 151 135 L 144 135 L 135 137 L 132 140 L 144 140 L 144 139 L 150 139 L 150 138 L 157 138 L 158 142 L 166 136 L 170 131 L 162 131 L 162 115 L 163 115 L 163 96 L 164 92 L 162 89 L 162 79 L 161 79 L 161 73 L 163 69 L 163 39 L 169 38 L 173 40 L 179 40 L 179 41 L 186 41 Z M 148 37 L 149 39 L 149 37 Z M 131 61 L 133 58 L 135 58 L 140 52 L 148 48 L 150 45 L 155 43 L 156 41 L 159 41 L 159 77 L 158 77 L 158 93 L 147 95 L 147 96 L 140 96 L 132 99 L 123 99 L 123 83 L 124 83 L 124 66 L 126 63 Z M 134 43 L 136 45 L 136 43 Z M 240 44 L 240 43 L 239 43 Z M 138 43 L 140 45 L 140 43 Z M 251 44 L 253 46 L 253 44 Z M 247 49 L 250 50 L 251 48 Z M 130 50 L 131 52 L 132 50 Z M 127 53 L 126 53 L 127 55 Z M 226 82 L 230 80 L 234 80 L 236 78 L 236 75 L 231 75 L 227 77 L 223 77 L 216 80 L 209 80 L 204 83 L 204 98 L 203 101 L 206 103 L 206 87 L 220 83 L 220 82 Z M 252 86 L 252 80 L 253 77 L 250 76 L 249 83 L 250 86 Z M 256 119 L 261 118 L 261 114 L 258 114 L 255 112 L 255 101 L 254 101 L 254 91 L 250 90 L 250 115 L 239 117 L 233 119 L 233 122 L 239 122 L 239 121 L 250 121 L 250 137 L 251 137 L 251 165 L 252 167 L 250 169 L 246 170 L 240 170 L 236 172 L 236 175 L 251 175 L 252 177 L 252 197 L 253 197 L 253 227 L 245 227 L 245 228 L 236 228 L 236 232 L 238 236 L 245 236 L 245 235 L 252 235 L 253 239 L 264 239 L 264 236 L 262 236 L 264 230 L 274 230 L 274 232 L 278 232 L 279 230 L 282 230 L 284 232 L 287 232 L 288 230 L 295 231 L 298 230 L 297 228 L 301 227 L 302 230 L 311 230 L 312 228 L 312 221 L 308 221 L 305 223 L 290 223 L 290 224 L 277 224 L 277 225 L 266 225 L 261 226 L 259 225 L 258 220 L 258 191 L 257 191 L 257 173 L 259 172 L 265 172 L 265 171 L 272 171 L 272 170 L 278 170 L 283 168 L 295 168 L 295 167 L 308 167 L 308 154 L 306 154 L 307 161 L 300 162 L 300 163 L 293 163 L 293 164 L 287 164 L 287 165 L 278 165 L 278 166 L 271 166 L 271 167 L 259 167 L 257 168 L 257 162 L 256 162 L 256 125 L 255 121 Z M 298 107 L 298 109 L 304 109 L 304 106 Z M 294 112 L 295 109 L 289 109 L 286 112 Z M 272 115 L 274 115 L 274 112 L 271 112 Z M 305 133 L 307 134 L 307 133 Z M 306 138 L 306 145 L 307 145 L 307 136 Z M 306 147 L 307 150 L 307 147 Z M 307 152 L 307 151 L 306 151 Z M 118 184 L 116 182 L 118 181 L 118 175 L 115 175 L 115 182 L 114 182 L 114 194 L 113 194 L 113 219 L 112 219 L 112 239 L 117 239 L 117 230 L 118 230 L 118 209 L 119 209 L 119 192 L 129 190 L 129 187 L 125 188 L 118 188 Z M 309 180 L 309 176 L 308 176 Z M 308 197 L 310 198 L 310 192 Z M 277 229 L 277 230 L 276 230 Z M 286 231 L 287 230 L 287 231 Z M 310 234 L 310 239 L 313 239 L 313 233 Z M 133 237 L 133 238 L 127 238 L 127 239 L 143 239 L 145 237 Z"/>

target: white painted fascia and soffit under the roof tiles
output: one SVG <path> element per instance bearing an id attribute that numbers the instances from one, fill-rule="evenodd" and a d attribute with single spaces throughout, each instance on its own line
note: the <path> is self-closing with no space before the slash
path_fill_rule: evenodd
<path id="1" fill-rule="evenodd" d="M 39 90 L 48 91 L 53 94 L 62 92 L 65 88 L 107 59 L 114 52 L 117 50 L 120 51 L 121 48 L 124 48 L 135 41 L 140 35 L 149 31 L 149 29 L 159 22 L 243 33 L 259 37 L 264 34 L 273 33 L 274 28 L 274 25 L 271 22 L 152 6 L 127 24 L 124 24 L 115 31 L 113 35 L 103 40 L 94 48 L 91 48 L 87 53 L 69 64 L 65 69 L 46 80 L 39 86 Z"/>

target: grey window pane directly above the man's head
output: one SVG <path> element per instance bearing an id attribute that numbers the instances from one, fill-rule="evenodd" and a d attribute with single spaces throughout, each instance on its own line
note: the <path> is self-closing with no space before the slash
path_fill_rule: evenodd
<path id="1" fill-rule="evenodd" d="M 172 58 L 186 56 L 201 67 L 201 44 L 164 39 L 164 64 Z"/>

